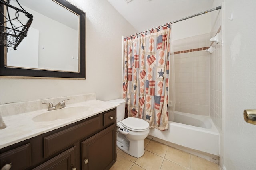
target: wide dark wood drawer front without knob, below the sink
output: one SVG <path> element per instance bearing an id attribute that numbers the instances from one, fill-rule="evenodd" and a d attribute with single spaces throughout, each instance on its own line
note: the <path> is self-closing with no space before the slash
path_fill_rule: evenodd
<path id="1" fill-rule="evenodd" d="M 60 131 L 48 137 L 44 137 L 44 158 L 65 149 L 86 136 L 100 129 L 100 117 L 94 117 L 88 121 Z"/>

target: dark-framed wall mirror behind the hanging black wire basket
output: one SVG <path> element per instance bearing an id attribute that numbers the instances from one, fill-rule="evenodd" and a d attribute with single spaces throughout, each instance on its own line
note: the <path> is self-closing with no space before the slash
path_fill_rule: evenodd
<path id="1" fill-rule="evenodd" d="M 16 0 L 11 2 L 18 7 Z M 0 76 L 85 79 L 85 12 L 65 0 L 18 2 L 33 21 L 17 50 L 1 45 Z M 12 8 L 8 10 L 15 16 Z"/>

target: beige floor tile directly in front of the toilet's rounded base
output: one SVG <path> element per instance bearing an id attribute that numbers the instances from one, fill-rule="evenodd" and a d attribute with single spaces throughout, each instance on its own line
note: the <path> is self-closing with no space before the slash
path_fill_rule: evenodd
<path id="1" fill-rule="evenodd" d="M 164 158 L 145 150 L 145 154 L 135 163 L 146 170 L 160 170 L 163 160 Z"/>

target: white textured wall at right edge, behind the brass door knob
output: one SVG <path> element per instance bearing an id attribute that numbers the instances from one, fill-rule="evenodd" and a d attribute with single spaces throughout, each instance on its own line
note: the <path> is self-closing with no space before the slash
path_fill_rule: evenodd
<path id="1" fill-rule="evenodd" d="M 223 165 L 226 170 L 255 170 L 256 125 L 243 119 L 256 109 L 256 1 L 224 1 L 222 66 Z M 228 20 L 234 14 L 232 21 Z"/>

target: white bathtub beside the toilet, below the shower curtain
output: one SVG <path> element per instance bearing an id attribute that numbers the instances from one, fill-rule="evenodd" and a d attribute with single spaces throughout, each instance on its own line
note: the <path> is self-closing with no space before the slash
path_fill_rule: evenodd
<path id="1" fill-rule="evenodd" d="M 175 112 L 169 129 L 150 129 L 149 135 L 164 141 L 219 156 L 219 132 L 208 116 Z"/>

